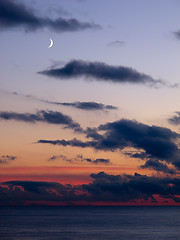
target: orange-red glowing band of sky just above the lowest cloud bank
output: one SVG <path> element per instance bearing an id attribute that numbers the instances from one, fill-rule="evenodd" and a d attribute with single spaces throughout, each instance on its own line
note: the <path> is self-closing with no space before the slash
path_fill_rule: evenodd
<path id="1" fill-rule="evenodd" d="M 13 180 L 20 181 L 48 181 L 58 183 L 71 183 L 73 185 L 89 183 L 92 181 L 91 173 L 106 172 L 108 174 L 134 174 L 137 169 L 121 168 L 116 166 L 84 166 L 84 167 L 2 167 L 0 169 L 0 182 Z M 138 171 L 139 172 L 139 171 Z M 150 173 L 150 171 L 149 171 Z"/>

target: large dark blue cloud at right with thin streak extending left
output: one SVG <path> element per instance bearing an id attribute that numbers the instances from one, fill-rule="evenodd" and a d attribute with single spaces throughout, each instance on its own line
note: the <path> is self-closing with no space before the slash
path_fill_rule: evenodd
<path id="1" fill-rule="evenodd" d="M 175 141 L 180 137 L 176 132 L 168 128 L 148 126 L 137 121 L 122 119 L 112 123 L 100 125 L 98 128 L 88 128 L 87 138 L 90 141 L 72 140 L 39 140 L 39 143 L 53 145 L 91 147 L 96 150 L 116 151 L 133 147 L 144 153 L 136 154 L 141 159 L 159 159 L 172 163 L 178 167 L 180 162 L 180 150 Z M 135 155 L 134 155 L 135 156 Z M 134 157 L 131 155 L 131 157 Z"/>

